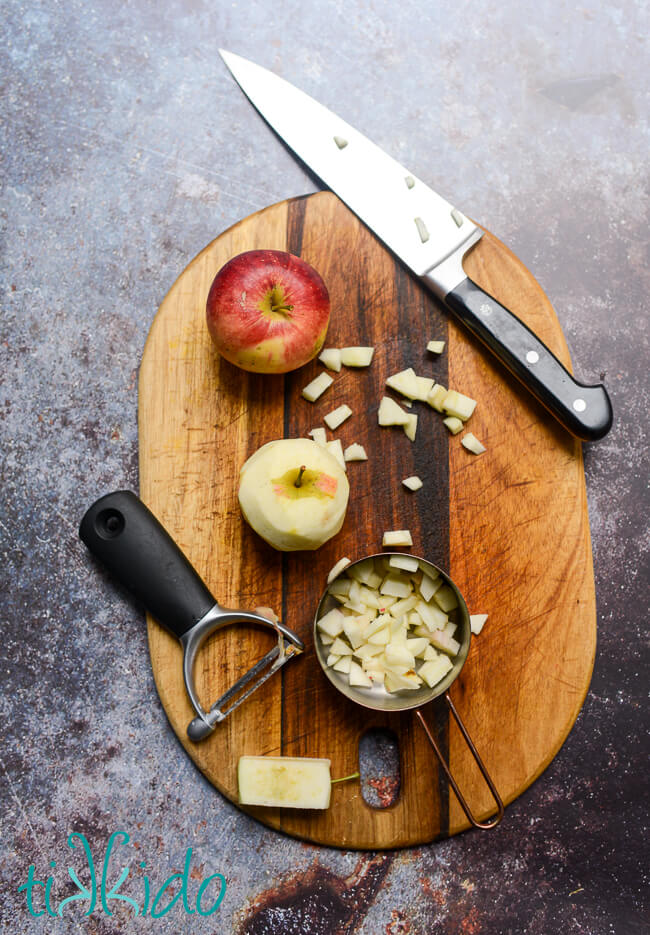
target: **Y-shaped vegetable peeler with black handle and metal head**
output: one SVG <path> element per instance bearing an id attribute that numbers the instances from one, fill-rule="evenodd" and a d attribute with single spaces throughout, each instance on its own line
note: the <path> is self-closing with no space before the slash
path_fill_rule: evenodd
<path id="1" fill-rule="evenodd" d="M 187 736 L 212 733 L 249 695 L 289 659 L 302 641 L 284 624 L 259 613 L 222 607 L 153 513 L 130 490 L 96 500 L 79 526 L 82 542 L 183 647 L 183 680 L 196 717 Z M 253 623 L 270 627 L 278 643 L 206 711 L 194 682 L 194 663 L 206 640 L 222 627 Z"/>

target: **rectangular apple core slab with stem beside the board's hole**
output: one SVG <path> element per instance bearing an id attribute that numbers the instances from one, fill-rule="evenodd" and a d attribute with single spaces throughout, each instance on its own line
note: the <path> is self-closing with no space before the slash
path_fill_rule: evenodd
<path id="1" fill-rule="evenodd" d="M 241 805 L 329 808 L 330 760 L 302 756 L 241 756 L 237 768 Z"/>

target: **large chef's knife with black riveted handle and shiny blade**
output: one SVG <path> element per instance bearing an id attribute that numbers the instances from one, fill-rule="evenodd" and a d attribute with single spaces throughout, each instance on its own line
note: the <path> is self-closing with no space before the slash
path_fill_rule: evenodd
<path id="1" fill-rule="evenodd" d="M 572 434 L 612 425 L 601 384 L 576 381 L 512 312 L 473 283 L 463 257 L 482 230 L 365 136 L 272 72 L 221 57 L 275 132 Z"/>

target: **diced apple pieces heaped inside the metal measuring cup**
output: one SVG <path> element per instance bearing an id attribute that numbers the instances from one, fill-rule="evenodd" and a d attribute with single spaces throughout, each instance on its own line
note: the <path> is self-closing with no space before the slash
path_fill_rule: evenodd
<path id="1" fill-rule="evenodd" d="M 422 560 L 400 553 L 364 559 L 346 565 L 328 590 L 335 597 L 345 592 L 348 601 L 317 621 L 318 638 L 327 666 L 350 686 L 388 693 L 434 688 L 453 668 L 461 649 L 453 618 L 458 601 L 444 576 Z"/>

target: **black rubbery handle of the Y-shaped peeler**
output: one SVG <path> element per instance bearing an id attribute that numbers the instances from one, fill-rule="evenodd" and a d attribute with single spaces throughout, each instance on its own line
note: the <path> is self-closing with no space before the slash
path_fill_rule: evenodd
<path id="1" fill-rule="evenodd" d="M 96 500 L 81 520 L 79 536 L 179 639 L 216 604 L 169 533 L 130 490 Z"/>

